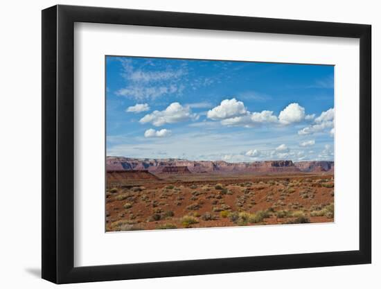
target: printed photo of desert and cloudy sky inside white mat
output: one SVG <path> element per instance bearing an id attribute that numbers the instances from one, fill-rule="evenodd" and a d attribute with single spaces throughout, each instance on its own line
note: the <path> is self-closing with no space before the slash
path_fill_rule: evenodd
<path id="1" fill-rule="evenodd" d="M 334 67 L 105 57 L 106 231 L 334 222 Z"/>

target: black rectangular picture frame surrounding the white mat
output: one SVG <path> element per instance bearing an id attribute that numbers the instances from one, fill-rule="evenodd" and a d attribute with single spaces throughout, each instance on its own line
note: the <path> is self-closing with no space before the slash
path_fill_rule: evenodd
<path id="1" fill-rule="evenodd" d="M 360 249 L 74 267 L 75 22 L 360 39 Z M 42 278 L 78 283 L 371 263 L 371 26 L 83 6 L 42 11 Z"/>

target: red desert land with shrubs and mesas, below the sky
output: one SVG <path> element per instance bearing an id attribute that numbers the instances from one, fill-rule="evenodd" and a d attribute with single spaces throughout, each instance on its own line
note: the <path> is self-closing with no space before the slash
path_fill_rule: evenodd
<path id="1" fill-rule="evenodd" d="M 334 220 L 333 161 L 107 157 L 106 231 Z"/>

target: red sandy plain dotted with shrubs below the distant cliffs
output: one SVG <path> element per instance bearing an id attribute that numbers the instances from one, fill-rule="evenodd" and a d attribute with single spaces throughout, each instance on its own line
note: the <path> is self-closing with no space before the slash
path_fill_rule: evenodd
<path id="1" fill-rule="evenodd" d="M 333 222 L 333 184 L 330 173 L 258 176 L 112 172 L 107 173 L 106 229 Z M 245 213 L 254 217 L 260 211 L 265 218 L 255 222 L 245 219 Z M 234 215 L 240 216 L 238 220 Z"/>

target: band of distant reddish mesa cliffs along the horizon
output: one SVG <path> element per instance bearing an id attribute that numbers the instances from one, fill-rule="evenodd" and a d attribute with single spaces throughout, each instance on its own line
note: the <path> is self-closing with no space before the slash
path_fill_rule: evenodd
<path id="1" fill-rule="evenodd" d="M 150 173 L 333 173 L 333 161 L 188 161 L 184 159 L 133 159 L 107 157 L 107 171 L 147 170 Z"/>

